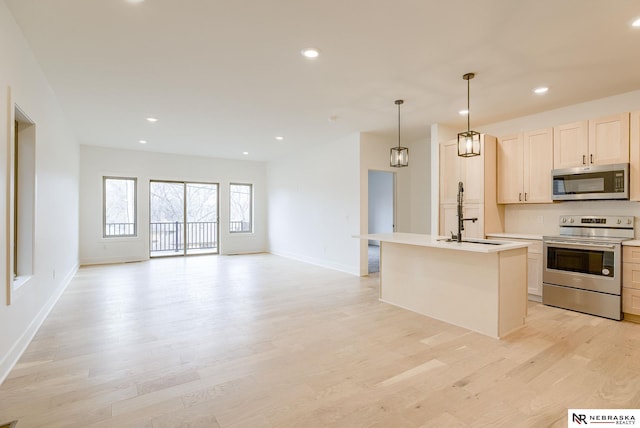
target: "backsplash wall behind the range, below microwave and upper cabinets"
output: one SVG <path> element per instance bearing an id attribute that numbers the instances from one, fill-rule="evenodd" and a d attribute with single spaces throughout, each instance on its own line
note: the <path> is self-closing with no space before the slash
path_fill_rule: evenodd
<path id="1" fill-rule="evenodd" d="M 634 216 L 636 239 L 640 239 L 640 202 L 564 201 L 553 204 L 505 205 L 505 232 L 557 235 L 561 215 Z"/>

